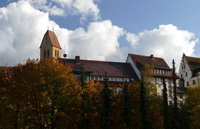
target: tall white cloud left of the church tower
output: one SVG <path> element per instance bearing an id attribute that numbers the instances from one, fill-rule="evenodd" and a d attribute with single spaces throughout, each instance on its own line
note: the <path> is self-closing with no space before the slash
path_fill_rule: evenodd
<path id="1" fill-rule="evenodd" d="M 13 65 L 38 57 L 41 34 L 49 23 L 53 24 L 47 13 L 35 10 L 25 1 L 0 8 L 0 63 Z"/>

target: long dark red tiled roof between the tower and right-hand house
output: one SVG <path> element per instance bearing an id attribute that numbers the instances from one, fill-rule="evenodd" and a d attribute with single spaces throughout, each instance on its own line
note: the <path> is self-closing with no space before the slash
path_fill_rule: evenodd
<path id="1" fill-rule="evenodd" d="M 95 60 L 79 60 L 79 63 L 77 63 L 75 59 L 60 58 L 59 60 L 73 70 L 81 64 L 84 70 L 90 72 L 92 76 L 105 76 L 105 73 L 107 73 L 108 77 L 134 78 L 135 81 L 138 81 L 130 63 Z"/>

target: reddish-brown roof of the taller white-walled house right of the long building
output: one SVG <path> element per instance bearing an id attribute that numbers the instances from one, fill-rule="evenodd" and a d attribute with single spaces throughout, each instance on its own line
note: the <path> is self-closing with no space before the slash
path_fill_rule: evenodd
<path id="1" fill-rule="evenodd" d="M 153 66 L 155 69 L 170 70 L 169 66 L 162 58 L 154 57 L 153 55 L 143 56 L 136 54 L 128 54 L 128 56 L 130 56 L 130 58 L 133 60 L 136 66 L 150 65 Z"/>

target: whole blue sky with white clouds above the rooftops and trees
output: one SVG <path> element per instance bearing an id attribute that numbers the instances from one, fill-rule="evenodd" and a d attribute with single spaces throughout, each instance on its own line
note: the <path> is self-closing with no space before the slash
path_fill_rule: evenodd
<path id="1" fill-rule="evenodd" d="M 200 55 L 199 0 L 1 0 L 0 64 L 39 58 L 47 30 L 68 58 L 125 61 L 154 54 L 177 65 Z M 177 66 L 178 67 L 178 66 Z"/>

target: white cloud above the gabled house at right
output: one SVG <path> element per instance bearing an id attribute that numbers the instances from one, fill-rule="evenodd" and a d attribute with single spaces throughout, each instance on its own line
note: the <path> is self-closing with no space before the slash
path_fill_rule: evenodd
<path id="1" fill-rule="evenodd" d="M 194 47 L 198 39 L 186 30 L 174 25 L 160 25 L 158 29 L 143 31 L 139 34 L 127 33 L 126 39 L 132 46 L 132 52 L 164 58 L 169 66 L 175 59 L 179 66 L 182 54 L 194 56 Z"/>

